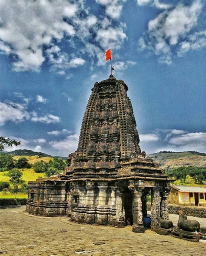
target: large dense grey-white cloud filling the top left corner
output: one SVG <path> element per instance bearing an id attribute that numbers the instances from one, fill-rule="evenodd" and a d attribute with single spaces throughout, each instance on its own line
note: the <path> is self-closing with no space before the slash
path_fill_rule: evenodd
<path id="1" fill-rule="evenodd" d="M 76 11 L 76 4 L 67 1 L 0 1 L 0 50 L 16 55 L 13 69 L 39 71 L 45 61 L 43 45 L 51 44 L 53 38 L 61 40 L 64 34 L 75 34 L 63 17 L 70 19 Z"/>

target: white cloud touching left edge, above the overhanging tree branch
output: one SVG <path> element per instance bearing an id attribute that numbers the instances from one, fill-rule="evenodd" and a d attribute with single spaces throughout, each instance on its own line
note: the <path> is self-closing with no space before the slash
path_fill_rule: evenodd
<path id="1" fill-rule="evenodd" d="M 30 118 L 25 104 L 13 101 L 0 101 L 0 126 L 7 121 L 22 122 Z"/>

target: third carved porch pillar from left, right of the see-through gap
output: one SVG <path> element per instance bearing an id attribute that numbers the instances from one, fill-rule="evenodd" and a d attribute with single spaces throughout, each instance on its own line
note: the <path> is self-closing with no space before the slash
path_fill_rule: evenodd
<path id="1" fill-rule="evenodd" d="M 151 201 L 151 230 L 155 231 L 156 226 L 158 226 L 157 218 L 160 216 L 160 195 L 158 188 L 152 189 Z"/>

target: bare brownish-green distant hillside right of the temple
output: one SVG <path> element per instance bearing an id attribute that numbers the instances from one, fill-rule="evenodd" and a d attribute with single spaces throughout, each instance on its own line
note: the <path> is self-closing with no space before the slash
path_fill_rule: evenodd
<path id="1" fill-rule="evenodd" d="M 163 169 L 179 166 L 206 167 L 206 154 L 195 151 L 187 152 L 159 152 L 146 155 L 146 158 L 153 159 Z"/>

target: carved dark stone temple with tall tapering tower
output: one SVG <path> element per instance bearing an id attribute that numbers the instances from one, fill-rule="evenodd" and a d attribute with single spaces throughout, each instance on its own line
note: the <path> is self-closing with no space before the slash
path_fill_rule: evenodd
<path id="1" fill-rule="evenodd" d="M 76 152 L 63 174 L 29 182 L 27 212 L 143 232 L 151 192 L 151 229 L 168 219 L 169 179 L 141 152 L 127 90 L 112 75 L 94 84 Z"/>

